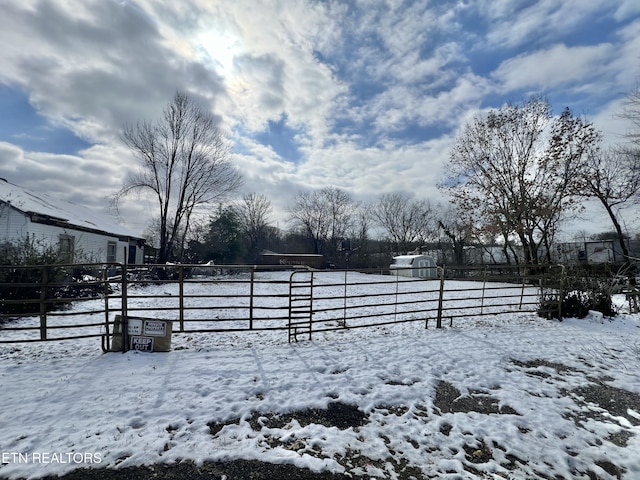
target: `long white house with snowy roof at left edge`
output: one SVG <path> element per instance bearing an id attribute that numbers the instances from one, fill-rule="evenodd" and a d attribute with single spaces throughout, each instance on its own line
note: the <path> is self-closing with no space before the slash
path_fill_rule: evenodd
<path id="1" fill-rule="evenodd" d="M 30 240 L 69 261 L 143 263 L 144 239 L 108 215 L 0 179 L 0 244 Z"/>

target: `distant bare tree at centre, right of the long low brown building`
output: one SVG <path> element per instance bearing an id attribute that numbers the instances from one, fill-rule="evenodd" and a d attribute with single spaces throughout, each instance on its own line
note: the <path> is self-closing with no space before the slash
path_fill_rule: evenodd
<path id="1" fill-rule="evenodd" d="M 304 232 L 313 253 L 333 259 L 354 226 L 354 212 L 358 208 L 347 192 L 327 187 L 298 193 L 288 210 L 290 221 Z"/>

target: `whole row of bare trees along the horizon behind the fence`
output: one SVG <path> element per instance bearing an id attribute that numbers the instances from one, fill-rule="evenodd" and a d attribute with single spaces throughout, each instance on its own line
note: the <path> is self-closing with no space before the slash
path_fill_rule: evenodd
<path id="1" fill-rule="evenodd" d="M 242 178 L 226 140 L 210 114 L 177 93 L 160 121 L 125 129 L 140 168 L 115 198 L 145 191 L 156 199 L 148 237 L 159 263 L 251 264 L 271 250 L 322 254 L 336 267 L 384 267 L 393 254 L 438 248 L 459 264 L 472 245 L 499 246 L 517 263 L 544 263 L 585 199 L 600 202 L 631 260 L 622 212 L 640 200 L 640 92 L 627 97 L 620 115 L 635 129 L 603 148 L 590 121 L 568 108 L 556 116 L 542 97 L 493 109 L 457 136 L 438 185 L 445 204 L 406 192 L 363 204 L 335 187 L 300 191 L 281 230 L 263 194 L 233 200 Z"/>

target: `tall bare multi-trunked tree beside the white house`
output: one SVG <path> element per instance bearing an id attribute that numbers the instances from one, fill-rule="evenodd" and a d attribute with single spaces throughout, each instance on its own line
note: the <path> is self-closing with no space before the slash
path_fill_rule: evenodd
<path id="1" fill-rule="evenodd" d="M 141 166 L 116 203 L 133 191 L 151 193 L 159 210 L 158 261 L 181 259 L 195 209 L 222 201 L 241 184 L 228 143 L 213 116 L 181 92 L 159 121 L 127 126 L 122 139 Z"/>

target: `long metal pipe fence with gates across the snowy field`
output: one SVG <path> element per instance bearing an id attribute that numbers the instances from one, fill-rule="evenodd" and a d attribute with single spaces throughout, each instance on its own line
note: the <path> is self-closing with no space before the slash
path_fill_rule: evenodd
<path id="1" fill-rule="evenodd" d="M 404 322 L 440 328 L 539 310 L 543 291 L 547 300 L 561 294 L 562 279 L 557 266 L 438 267 L 437 279 L 379 269 L 0 266 L 0 343 L 97 337 L 108 350 L 116 315 L 171 320 L 174 332 L 187 334 L 280 330 L 289 341 Z"/>

